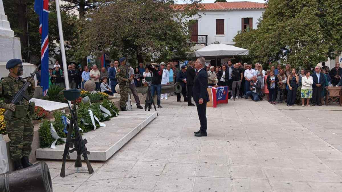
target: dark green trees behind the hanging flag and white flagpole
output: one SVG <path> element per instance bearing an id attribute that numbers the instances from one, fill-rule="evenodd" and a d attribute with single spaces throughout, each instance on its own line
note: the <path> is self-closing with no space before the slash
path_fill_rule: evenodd
<path id="1" fill-rule="evenodd" d="M 34 11 L 34 1 L 13 1 L 3 0 L 5 14 L 11 24 L 11 29 L 14 31 L 16 37 L 20 37 L 22 58 L 27 57 L 27 51 L 30 55 L 41 55 L 41 36 L 39 33 L 39 16 Z M 23 7 L 24 8 L 23 8 Z M 26 9 L 27 6 L 27 9 Z M 20 9 L 19 9 L 20 8 Z M 27 12 L 26 12 L 27 10 Z M 49 55 L 56 57 L 55 48 L 59 46 L 59 33 L 57 24 L 56 7 L 54 3 L 49 6 Z M 27 20 L 26 20 L 27 15 Z M 63 21 L 63 32 L 66 50 L 71 50 L 75 46 L 78 39 L 77 31 L 77 17 L 69 14 L 66 10 L 61 10 L 61 17 Z M 28 45 L 29 44 L 29 45 Z M 69 53 L 69 51 L 68 51 Z M 70 51 L 70 53 L 72 53 Z M 69 59 L 73 58 L 73 54 L 67 54 Z"/>

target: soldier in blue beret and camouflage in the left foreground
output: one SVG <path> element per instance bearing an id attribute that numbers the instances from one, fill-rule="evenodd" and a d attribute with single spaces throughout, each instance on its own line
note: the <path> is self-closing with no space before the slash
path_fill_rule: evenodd
<path id="1" fill-rule="evenodd" d="M 24 85 L 21 75 L 23 75 L 23 64 L 21 59 L 11 59 L 6 64 L 6 69 L 10 71 L 8 77 L 1 78 L 0 81 L 0 107 L 13 111 L 11 119 L 4 118 L 8 137 L 11 139 L 10 154 L 14 161 L 15 170 L 32 166 L 28 161 L 28 155 L 31 152 L 31 144 L 33 141 L 33 122 L 32 114 L 34 113 L 34 102 L 23 99 L 21 105 L 11 103 L 16 93 Z M 27 89 L 26 94 L 32 98 L 35 92 L 35 80 L 28 77 L 27 81 L 31 86 Z M 33 104 L 33 105 L 32 105 Z"/>

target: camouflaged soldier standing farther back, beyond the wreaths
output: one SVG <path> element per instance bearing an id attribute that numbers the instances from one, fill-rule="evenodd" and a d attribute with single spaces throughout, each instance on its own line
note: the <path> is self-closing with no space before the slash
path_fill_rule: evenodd
<path id="1" fill-rule="evenodd" d="M 118 80 L 120 88 L 120 107 L 121 111 L 127 111 L 126 105 L 128 101 L 128 89 L 131 80 L 129 80 L 128 67 L 126 65 L 126 57 L 119 59 L 120 67 L 116 72 L 115 78 Z"/>

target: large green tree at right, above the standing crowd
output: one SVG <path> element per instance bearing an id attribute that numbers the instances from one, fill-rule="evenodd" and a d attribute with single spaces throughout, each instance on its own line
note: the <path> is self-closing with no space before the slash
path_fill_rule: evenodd
<path id="1" fill-rule="evenodd" d="M 341 10 L 339 0 L 269 0 L 258 29 L 239 32 L 233 41 L 250 50 L 245 59 L 252 63 L 313 67 L 342 51 Z"/>

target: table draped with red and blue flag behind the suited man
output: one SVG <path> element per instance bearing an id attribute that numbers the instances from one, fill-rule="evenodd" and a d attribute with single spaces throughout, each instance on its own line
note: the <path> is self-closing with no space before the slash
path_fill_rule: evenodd
<path id="1" fill-rule="evenodd" d="M 228 86 L 212 86 L 207 88 L 210 101 L 207 107 L 216 107 L 218 104 L 228 103 Z"/>

